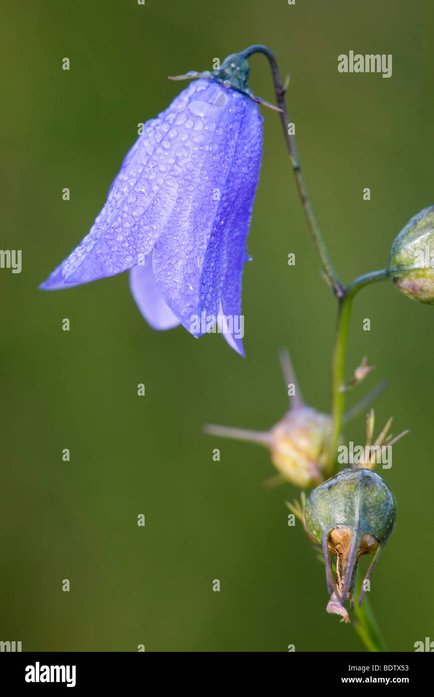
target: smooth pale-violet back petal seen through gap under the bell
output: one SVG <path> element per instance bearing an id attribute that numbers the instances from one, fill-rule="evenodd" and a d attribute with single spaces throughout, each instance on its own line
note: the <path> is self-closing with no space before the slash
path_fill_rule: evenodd
<path id="1" fill-rule="evenodd" d="M 143 266 L 134 266 L 130 270 L 130 290 L 141 314 L 153 329 L 172 329 L 180 324 L 157 289 L 151 256 L 146 257 Z"/>

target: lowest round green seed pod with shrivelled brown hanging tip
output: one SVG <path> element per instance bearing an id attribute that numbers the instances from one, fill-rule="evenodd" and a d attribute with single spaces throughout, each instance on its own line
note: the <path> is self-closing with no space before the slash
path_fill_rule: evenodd
<path id="1" fill-rule="evenodd" d="M 323 546 L 327 588 L 332 595 L 327 610 L 340 613 L 348 622 L 343 603 L 350 598 L 350 607 L 354 608 L 359 557 L 373 554 L 364 578 L 366 581 L 393 533 L 396 520 L 394 493 L 385 480 L 371 470 L 341 470 L 311 491 L 304 508 L 304 519 L 309 535 Z M 336 581 L 330 553 L 336 556 Z M 363 596 L 362 587 L 359 606 Z"/>

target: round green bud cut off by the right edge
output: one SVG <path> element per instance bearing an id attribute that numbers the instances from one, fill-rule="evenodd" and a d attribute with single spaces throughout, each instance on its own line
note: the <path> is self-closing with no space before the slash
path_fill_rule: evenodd
<path id="1" fill-rule="evenodd" d="M 434 206 L 414 215 L 398 234 L 387 275 L 412 300 L 434 305 Z"/>

